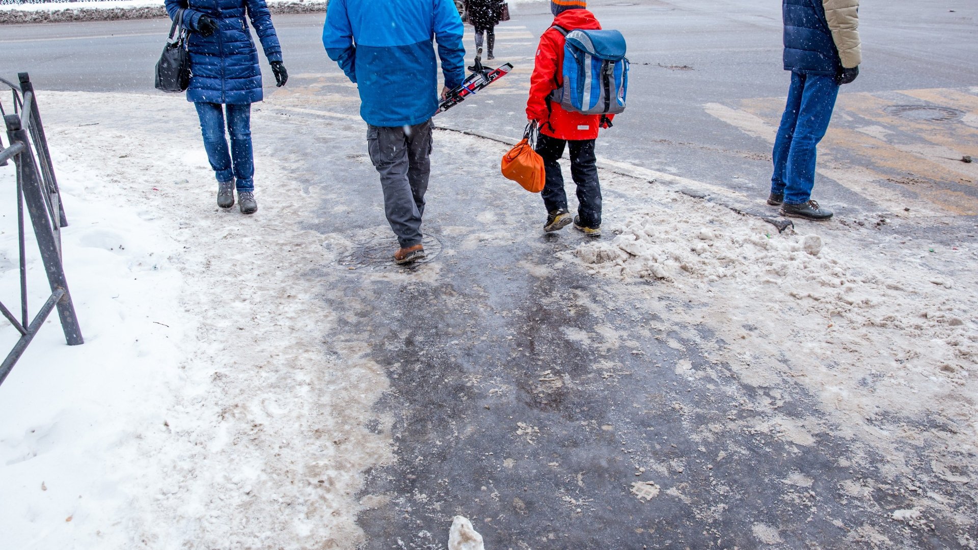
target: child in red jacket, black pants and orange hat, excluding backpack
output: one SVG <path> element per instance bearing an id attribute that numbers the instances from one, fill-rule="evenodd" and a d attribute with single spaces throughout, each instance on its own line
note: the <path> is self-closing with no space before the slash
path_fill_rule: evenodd
<path id="1" fill-rule="evenodd" d="M 568 31 L 600 29 L 600 23 L 586 7 L 586 0 L 551 0 L 551 12 L 556 16 L 554 25 Z M 527 118 L 536 120 L 540 129 L 536 151 L 544 158 L 547 172 L 547 183 L 541 194 L 544 206 L 547 206 L 544 231 L 562 229 L 571 221 L 567 194 L 563 190 L 563 174 L 557 163 L 564 146 L 569 145 L 570 175 L 577 184 L 578 208 L 574 228 L 598 237 L 601 234 L 601 189 L 598 166 L 595 165 L 595 140 L 599 127 L 608 127 L 613 115 L 581 115 L 565 111 L 559 103 L 549 99 L 551 92 L 563 85 L 563 45 L 563 34 L 554 26 L 540 36 L 536 65 L 530 76 L 530 98 L 526 102 Z"/>

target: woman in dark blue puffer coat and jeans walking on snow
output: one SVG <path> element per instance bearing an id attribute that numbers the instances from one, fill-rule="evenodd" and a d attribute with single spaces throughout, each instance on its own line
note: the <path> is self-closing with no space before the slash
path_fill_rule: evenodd
<path id="1" fill-rule="evenodd" d="M 265 0 L 165 0 L 176 20 L 183 10 L 183 27 L 190 31 L 191 78 L 187 101 L 200 115 L 203 147 L 217 176 L 217 205 L 235 205 L 242 213 L 258 209 L 254 200 L 254 160 L 251 153 L 251 104 L 262 100 L 258 51 L 245 15 L 261 40 L 278 86 L 289 73 L 282 65 L 282 47 L 272 26 Z M 222 109 L 221 106 L 224 106 Z M 231 150 L 224 133 L 227 115 Z M 237 180 L 237 181 L 236 181 Z"/>

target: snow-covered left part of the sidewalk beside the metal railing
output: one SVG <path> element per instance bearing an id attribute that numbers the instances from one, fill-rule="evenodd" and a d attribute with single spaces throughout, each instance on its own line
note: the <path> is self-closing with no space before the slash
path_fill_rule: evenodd
<path id="1" fill-rule="evenodd" d="M 316 198 L 259 153 L 258 214 L 217 208 L 182 98 L 44 92 L 41 109 L 86 344 L 67 347 L 52 317 L 0 387 L 4 544 L 357 538 L 356 475 L 389 453 L 357 417 L 385 378 L 355 350 L 341 369 L 321 350 L 336 313 L 302 283 L 320 239 L 294 223 Z M 0 174 L 13 196 L 12 168 Z M 3 204 L 11 299 L 16 215 Z M 353 450 L 337 457 L 337 440 Z"/>

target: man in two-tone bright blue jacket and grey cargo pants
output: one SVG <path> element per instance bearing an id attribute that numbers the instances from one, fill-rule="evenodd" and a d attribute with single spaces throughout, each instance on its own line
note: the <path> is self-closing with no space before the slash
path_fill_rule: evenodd
<path id="1" fill-rule="evenodd" d="M 452 0 L 331 0 L 326 53 L 360 91 L 367 149 L 380 173 L 384 210 L 397 235 L 397 263 L 424 257 L 422 214 L 431 153 L 431 116 L 466 77 L 462 19 Z"/>

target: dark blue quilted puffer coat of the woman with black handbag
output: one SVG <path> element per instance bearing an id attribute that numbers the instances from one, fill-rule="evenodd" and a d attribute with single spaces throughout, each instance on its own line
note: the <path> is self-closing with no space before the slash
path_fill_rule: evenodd
<path id="1" fill-rule="evenodd" d="M 165 0 L 170 19 L 187 0 Z M 202 103 L 247 104 L 262 100 L 261 69 L 258 52 L 245 15 L 257 31 L 269 63 L 282 61 L 282 47 L 272 26 L 272 16 L 265 0 L 189 0 L 184 27 L 191 30 L 191 78 L 187 101 Z M 217 23 L 217 30 L 202 36 L 198 29 L 200 16 L 207 15 Z"/>

